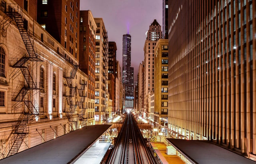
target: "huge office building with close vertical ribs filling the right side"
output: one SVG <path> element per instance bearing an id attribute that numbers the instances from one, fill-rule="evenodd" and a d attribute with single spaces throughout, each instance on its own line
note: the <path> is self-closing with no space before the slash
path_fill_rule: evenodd
<path id="1" fill-rule="evenodd" d="M 168 6 L 168 128 L 255 160 L 256 1 Z"/>

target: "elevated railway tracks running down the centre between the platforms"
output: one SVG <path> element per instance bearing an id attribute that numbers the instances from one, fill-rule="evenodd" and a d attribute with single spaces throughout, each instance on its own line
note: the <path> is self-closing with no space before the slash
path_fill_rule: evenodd
<path id="1" fill-rule="evenodd" d="M 128 113 L 107 163 L 155 164 L 151 156 L 132 114 Z"/>

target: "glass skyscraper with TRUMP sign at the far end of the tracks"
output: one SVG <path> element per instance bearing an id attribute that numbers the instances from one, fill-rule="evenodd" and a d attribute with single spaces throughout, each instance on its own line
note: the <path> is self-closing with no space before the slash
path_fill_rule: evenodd
<path id="1" fill-rule="evenodd" d="M 134 106 L 134 68 L 131 67 L 131 35 L 123 35 L 123 84 L 124 84 L 124 108 Z"/>

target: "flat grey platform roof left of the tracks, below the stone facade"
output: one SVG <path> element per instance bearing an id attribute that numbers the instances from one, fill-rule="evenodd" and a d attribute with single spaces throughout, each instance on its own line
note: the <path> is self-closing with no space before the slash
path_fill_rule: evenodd
<path id="1" fill-rule="evenodd" d="M 66 164 L 74 162 L 111 124 L 85 126 L 0 160 L 5 164 Z"/>

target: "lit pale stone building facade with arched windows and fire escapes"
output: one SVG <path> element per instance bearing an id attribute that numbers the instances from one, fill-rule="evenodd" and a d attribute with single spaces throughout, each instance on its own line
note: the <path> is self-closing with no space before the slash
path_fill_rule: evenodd
<path id="1" fill-rule="evenodd" d="M 4 158 L 86 126 L 94 112 L 86 110 L 88 76 L 70 52 L 12 0 L 1 6 L 0 22 Z"/>

